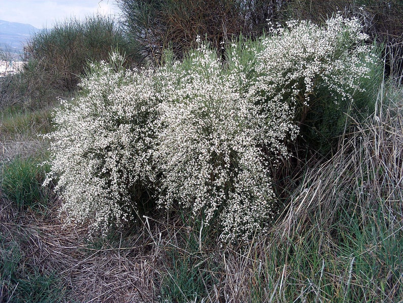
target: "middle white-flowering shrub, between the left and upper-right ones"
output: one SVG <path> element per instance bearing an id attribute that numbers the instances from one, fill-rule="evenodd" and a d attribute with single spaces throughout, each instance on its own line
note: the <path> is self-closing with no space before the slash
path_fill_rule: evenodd
<path id="1" fill-rule="evenodd" d="M 284 140 L 296 133 L 288 105 L 271 103 L 269 114 L 255 104 L 250 80 L 224 69 L 205 45 L 160 74 L 159 203 L 182 205 L 206 223 L 218 215 L 225 233 L 256 230 L 272 218 L 274 200 L 260 147 L 286 154 Z"/>

